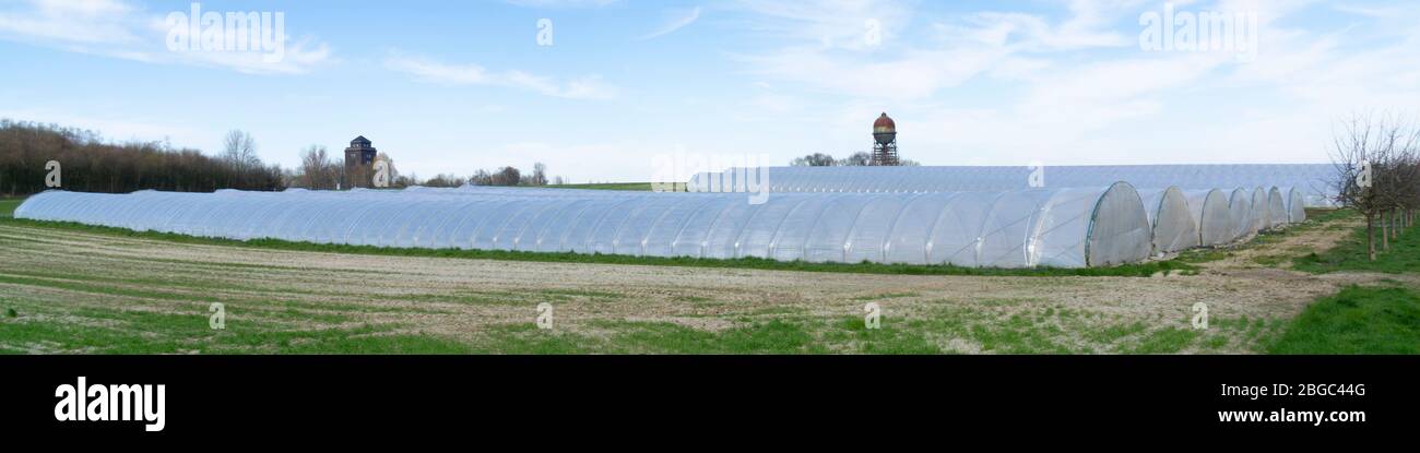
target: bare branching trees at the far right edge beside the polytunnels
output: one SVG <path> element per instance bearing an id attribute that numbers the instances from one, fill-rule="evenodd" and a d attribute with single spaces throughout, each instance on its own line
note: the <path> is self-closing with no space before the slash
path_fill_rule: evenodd
<path id="1" fill-rule="evenodd" d="M 1366 217 L 1366 251 L 1376 260 L 1414 224 L 1420 207 L 1420 126 L 1403 116 L 1353 114 L 1332 133 L 1336 202 Z"/>

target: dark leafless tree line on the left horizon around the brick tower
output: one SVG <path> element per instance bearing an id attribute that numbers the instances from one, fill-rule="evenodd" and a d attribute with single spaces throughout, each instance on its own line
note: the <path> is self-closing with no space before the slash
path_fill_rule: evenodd
<path id="1" fill-rule="evenodd" d="M 58 175 L 62 189 L 77 192 L 348 189 L 341 187 L 345 180 L 342 153 L 331 153 L 325 146 L 312 145 L 300 152 L 301 163 L 297 168 L 283 169 L 263 162 L 257 151 L 256 138 L 244 131 L 227 132 L 219 153 L 209 156 L 199 149 L 173 148 L 166 142 L 111 143 L 94 131 L 0 119 L 0 195 L 44 192 L 50 189 L 45 182 L 51 175 Z M 57 173 L 48 166 L 51 160 L 60 163 Z M 535 163 L 528 173 L 504 166 L 496 172 L 479 170 L 471 176 L 437 175 L 422 180 L 417 175 L 400 175 L 395 160 L 383 152 L 376 160 L 388 165 L 392 187 L 565 183 L 561 176 L 548 178 L 544 163 Z"/>

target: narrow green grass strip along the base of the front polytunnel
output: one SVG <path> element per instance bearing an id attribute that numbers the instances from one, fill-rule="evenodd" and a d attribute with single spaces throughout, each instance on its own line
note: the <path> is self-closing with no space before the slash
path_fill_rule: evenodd
<path id="1" fill-rule="evenodd" d="M 314 244 L 295 243 L 274 239 L 258 239 L 250 241 L 195 237 L 172 233 L 133 231 L 126 229 L 99 227 L 80 223 L 36 222 L 26 219 L 0 219 L 0 224 L 41 227 L 57 230 L 74 230 L 119 237 L 166 240 L 186 244 L 213 244 L 231 247 L 257 247 L 293 251 L 324 251 L 346 254 L 376 254 L 376 256 L 406 256 L 406 257 L 447 257 L 474 260 L 504 260 L 504 261 L 537 261 L 537 263 L 586 263 L 586 264 L 640 264 L 640 266 L 680 266 L 680 267 L 713 267 L 713 268 L 755 268 L 809 273 L 856 273 L 856 274 L 897 274 L 897 275 L 1018 275 L 1018 277 L 1152 277 L 1157 273 L 1183 271 L 1191 273 L 1197 268 L 1183 261 L 1166 260 L 1136 264 L 1122 264 L 1113 267 L 1086 268 L 977 268 L 958 266 L 924 266 L 924 264 L 879 264 L 879 263 L 804 263 L 804 261 L 775 261 L 768 258 L 690 258 L 690 257 L 633 257 L 616 254 L 584 254 L 584 253 L 532 253 L 532 251 L 504 251 L 504 250 L 457 250 L 457 249 L 398 249 L 373 246 L 345 246 L 345 244 Z"/>

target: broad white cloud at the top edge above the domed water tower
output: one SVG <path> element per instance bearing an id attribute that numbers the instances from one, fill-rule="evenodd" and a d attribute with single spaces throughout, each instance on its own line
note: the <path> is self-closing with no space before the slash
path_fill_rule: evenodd
<path id="1" fill-rule="evenodd" d="M 1119 0 L 1118 4 L 1137 0 Z M 1109 30 L 1118 10 L 1098 1 L 1072 1 L 1066 20 L 1021 13 L 973 13 L 916 28 L 923 16 L 902 1 L 744 3 L 758 17 L 751 31 L 774 34 L 785 45 L 741 55 L 753 72 L 794 85 L 851 97 L 927 99 L 983 74 L 1025 78 L 1051 65 L 1034 57 L 1096 47 L 1123 47 L 1132 37 Z M 880 24 L 880 43 L 866 40 L 865 20 Z"/>

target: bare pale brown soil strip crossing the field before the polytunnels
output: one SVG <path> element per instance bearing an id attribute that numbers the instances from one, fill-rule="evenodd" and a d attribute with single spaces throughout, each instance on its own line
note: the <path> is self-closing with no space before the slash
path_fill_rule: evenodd
<path id="1" fill-rule="evenodd" d="M 943 352 L 967 354 L 1003 351 L 983 339 L 978 327 L 1021 317 L 1031 320 L 1030 328 L 1054 332 L 1044 342 L 1049 351 L 1139 351 L 1133 345 L 1147 342 L 1149 332 L 1189 329 L 1194 304 L 1204 302 L 1211 320 L 1241 320 L 1244 328 L 1166 352 L 1248 354 L 1262 338 L 1257 328 L 1247 328 L 1250 324 L 1264 331 L 1275 328 L 1343 284 L 1396 278 L 1312 275 L 1255 260 L 1321 251 L 1346 233 L 1345 227 L 1305 229 L 1233 250 L 1225 258 L 1200 264 L 1203 270 L 1196 275 L 1137 278 L 879 275 L 392 257 L 183 244 L 0 224 L 0 301 L 34 307 L 31 311 L 40 312 L 30 322 L 78 325 L 115 321 L 58 308 L 168 312 L 200 310 L 202 304 L 193 302 L 212 300 L 237 307 L 280 301 L 307 315 L 358 314 L 355 321 L 337 324 L 390 324 L 400 332 L 467 341 L 490 329 L 531 325 L 541 302 L 557 307 L 558 329 L 592 338 L 613 335 L 609 322 L 673 324 L 704 332 L 777 317 L 831 324 L 862 318 L 865 304 L 878 302 L 889 322 L 970 314 L 970 328 L 929 337 Z M 267 305 L 257 308 L 275 315 Z M 304 322 L 301 315 L 283 320 Z M 320 325 L 311 321 L 310 328 Z M 24 352 L 84 352 L 62 341 L 50 346 L 11 345 Z M 859 346 L 832 344 L 829 351 L 858 352 Z"/>

